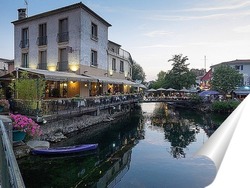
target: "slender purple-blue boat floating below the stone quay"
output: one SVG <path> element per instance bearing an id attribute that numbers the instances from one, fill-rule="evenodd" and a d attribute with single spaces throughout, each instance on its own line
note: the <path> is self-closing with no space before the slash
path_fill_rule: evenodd
<path id="1" fill-rule="evenodd" d="M 31 150 L 34 155 L 66 155 L 97 149 L 98 144 L 82 144 L 68 147 L 56 148 L 34 148 Z"/>

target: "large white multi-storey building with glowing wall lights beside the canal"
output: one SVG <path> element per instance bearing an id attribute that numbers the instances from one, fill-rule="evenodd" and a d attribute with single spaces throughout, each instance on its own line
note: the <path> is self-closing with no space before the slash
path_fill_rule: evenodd
<path id="1" fill-rule="evenodd" d="M 26 16 L 25 9 L 18 11 L 19 19 L 12 22 L 15 67 L 31 72 L 42 69 L 45 77 L 55 71 L 59 82 L 48 79 L 48 96 L 53 89 L 64 97 L 100 95 L 114 85 L 119 85 L 120 92 L 128 92 L 125 85 L 133 84 L 127 80 L 132 75 L 131 56 L 108 41 L 111 24 L 94 11 L 83 3 L 31 17 Z M 112 69 L 113 59 L 119 63 L 118 71 Z M 62 79 L 58 76 L 62 72 L 78 76 L 72 76 L 75 80 L 70 76 Z"/>

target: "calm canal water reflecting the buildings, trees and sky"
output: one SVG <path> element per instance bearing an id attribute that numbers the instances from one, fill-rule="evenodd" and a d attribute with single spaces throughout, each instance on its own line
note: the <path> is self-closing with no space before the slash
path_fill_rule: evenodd
<path id="1" fill-rule="evenodd" d="M 142 103 L 101 131 L 70 135 L 54 146 L 98 143 L 95 152 L 29 156 L 18 160 L 27 188 L 201 188 L 216 175 L 212 161 L 195 153 L 226 116 Z"/>

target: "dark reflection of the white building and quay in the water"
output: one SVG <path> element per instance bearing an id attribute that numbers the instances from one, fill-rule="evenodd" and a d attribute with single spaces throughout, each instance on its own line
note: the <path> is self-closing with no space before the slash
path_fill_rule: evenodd
<path id="1" fill-rule="evenodd" d="M 135 116 L 106 123 L 102 129 L 76 133 L 53 146 L 99 143 L 97 153 L 74 156 L 30 156 L 18 161 L 26 187 L 107 187 L 130 166 L 132 148 L 143 138 L 141 110 Z"/>

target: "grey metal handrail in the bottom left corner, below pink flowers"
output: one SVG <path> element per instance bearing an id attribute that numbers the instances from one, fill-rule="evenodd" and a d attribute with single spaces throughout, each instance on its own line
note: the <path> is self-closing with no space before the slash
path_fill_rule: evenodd
<path id="1" fill-rule="evenodd" d="M 0 169 L 0 184 L 2 187 L 25 188 L 10 139 L 2 120 L 0 120 Z"/>

